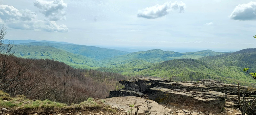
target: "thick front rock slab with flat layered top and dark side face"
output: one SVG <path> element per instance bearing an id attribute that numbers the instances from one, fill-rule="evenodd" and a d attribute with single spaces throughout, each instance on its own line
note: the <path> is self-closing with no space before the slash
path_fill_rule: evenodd
<path id="1" fill-rule="evenodd" d="M 184 109 L 221 112 L 227 95 L 216 91 L 188 91 L 167 88 L 150 88 L 148 98 L 157 103 L 179 104 Z"/>

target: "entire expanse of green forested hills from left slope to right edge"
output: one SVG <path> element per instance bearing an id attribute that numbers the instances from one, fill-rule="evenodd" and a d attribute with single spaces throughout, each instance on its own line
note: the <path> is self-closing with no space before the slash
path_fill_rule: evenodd
<path id="1" fill-rule="evenodd" d="M 160 49 L 125 52 L 76 44 L 30 42 L 15 44 L 12 51 L 23 58 L 49 58 L 75 68 L 96 69 L 129 76 L 154 76 L 176 81 L 217 79 L 226 83 L 254 82 L 242 69 L 255 72 L 256 49 L 237 52 L 202 50 L 179 53 Z"/>

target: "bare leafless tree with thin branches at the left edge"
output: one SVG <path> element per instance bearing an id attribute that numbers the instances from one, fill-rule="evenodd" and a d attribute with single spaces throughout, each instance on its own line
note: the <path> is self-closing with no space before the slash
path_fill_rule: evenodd
<path id="1" fill-rule="evenodd" d="M 21 76 L 28 70 L 29 64 L 22 59 L 10 60 L 13 57 L 13 53 L 10 53 L 13 43 L 9 41 L 4 44 L 6 34 L 6 27 L 3 25 L 0 27 L 0 90 L 12 93 L 20 86 L 14 82 L 28 80 L 21 78 Z"/>

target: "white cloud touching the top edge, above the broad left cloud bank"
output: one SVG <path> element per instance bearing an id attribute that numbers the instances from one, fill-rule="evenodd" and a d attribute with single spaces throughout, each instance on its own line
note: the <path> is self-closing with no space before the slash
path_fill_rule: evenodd
<path id="1" fill-rule="evenodd" d="M 67 4 L 63 2 L 63 0 L 36 0 L 34 2 L 34 6 L 39 8 L 40 12 L 44 14 L 45 17 L 50 20 L 66 20 L 66 8 Z"/>

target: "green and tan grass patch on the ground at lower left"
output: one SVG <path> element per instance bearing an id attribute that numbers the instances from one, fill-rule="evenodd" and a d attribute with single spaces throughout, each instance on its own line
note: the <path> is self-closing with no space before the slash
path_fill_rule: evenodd
<path id="1" fill-rule="evenodd" d="M 6 101 L 10 100 L 10 101 Z M 24 104 L 24 102 L 30 102 Z M 24 95 L 17 95 L 16 97 L 10 97 L 9 94 L 4 93 L 3 91 L 0 91 L 0 107 L 8 108 L 8 109 L 21 109 L 21 110 L 37 110 L 37 109 L 43 109 L 43 110 L 52 110 L 52 109 L 76 109 L 80 110 L 82 108 L 87 109 L 98 109 L 102 107 L 104 100 L 95 100 L 93 98 L 88 98 L 86 101 L 81 102 L 80 104 L 71 104 L 68 106 L 67 104 L 54 102 L 51 100 L 29 100 L 26 99 L 26 96 Z M 109 109 L 110 107 L 105 107 L 104 109 L 115 112 L 113 109 Z"/>

